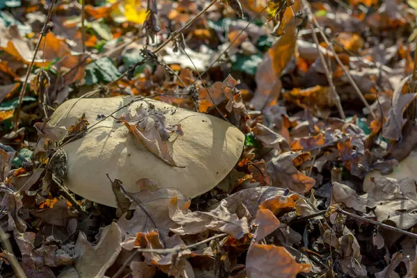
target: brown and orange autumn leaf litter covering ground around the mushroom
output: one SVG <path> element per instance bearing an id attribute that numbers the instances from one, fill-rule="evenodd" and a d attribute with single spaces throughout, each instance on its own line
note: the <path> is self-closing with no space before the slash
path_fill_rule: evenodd
<path id="1" fill-rule="evenodd" d="M 416 232 L 417 183 L 402 166 L 417 142 L 415 1 L 54 5 L 0 5 L 2 275 L 416 277 L 404 232 Z M 243 153 L 193 199 L 108 176 L 117 208 L 96 204 L 65 188 L 62 150 L 97 127 L 89 111 L 49 123 L 86 92 L 172 104 L 94 117 L 179 171 L 175 107 L 236 126 Z"/>

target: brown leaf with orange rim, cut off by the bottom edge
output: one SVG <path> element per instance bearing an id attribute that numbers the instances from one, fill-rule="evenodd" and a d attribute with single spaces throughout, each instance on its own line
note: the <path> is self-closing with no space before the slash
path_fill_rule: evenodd
<path id="1" fill-rule="evenodd" d="M 285 247 L 254 243 L 246 256 L 248 278 L 295 278 L 309 272 L 311 265 L 297 263 Z"/>

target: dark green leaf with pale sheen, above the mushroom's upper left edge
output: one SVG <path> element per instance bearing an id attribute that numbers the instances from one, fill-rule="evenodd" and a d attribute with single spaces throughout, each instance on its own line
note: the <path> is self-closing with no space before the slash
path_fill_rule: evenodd
<path id="1" fill-rule="evenodd" d="M 103 57 L 85 67 L 85 85 L 109 83 L 115 81 L 121 75 L 112 61 L 107 57 Z"/>

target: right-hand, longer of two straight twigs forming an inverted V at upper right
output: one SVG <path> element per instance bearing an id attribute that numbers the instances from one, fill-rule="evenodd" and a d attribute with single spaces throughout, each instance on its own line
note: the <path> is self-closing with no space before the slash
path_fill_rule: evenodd
<path id="1" fill-rule="evenodd" d="M 329 47 L 330 51 L 332 51 L 332 53 L 334 55 L 334 59 L 336 60 L 338 65 L 341 66 L 343 72 L 347 76 L 347 79 L 349 79 L 349 81 L 352 84 L 352 87 L 354 88 L 355 92 L 357 92 L 358 97 L 361 99 L 361 101 L 366 106 L 366 108 L 369 109 L 370 115 L 372 115 L 372 117 L 376 120 L 377 117 L 376 117 L 375 113 L 372 111 L 372 109 L 370 108 L 370 106 L 368 104 L 368 101 L 366 101 L 365 97 L 363 97 L 363 94 L 362 94 L 361 90 L 359 90 L 357 84 L 354 82 L 354 80 L 352 78 L 352 75 L 350 74 L 349 70 L 346 69 L 346 67 L 345 67 L 345 65 L 343 65 L 341 59 L 338 58 L 338 56 L 336 54 L 336 51 L 334 50 L 333 44 L 331 42 L 329 42 L 329 40 L 327 39 L 327 35 L 322 31 L 322 28 L 321 28 L 320 24 L 318 23 L 316 17 L 311 12 L 309 2 L 307 2 L 306 0 L 302 0 L 302 3 L 304 5 L 304 7 L 306 8 L 307 13 L 309 13 L 309 16 L 310 16 L 311 20 L 313 20 L 313 23 L 318 27 L 318 30 L 320 31 L 320 35 L 322 36 L 323 40 L 325 40 L 325 42 L 326 42 L 327 46 Z"/>

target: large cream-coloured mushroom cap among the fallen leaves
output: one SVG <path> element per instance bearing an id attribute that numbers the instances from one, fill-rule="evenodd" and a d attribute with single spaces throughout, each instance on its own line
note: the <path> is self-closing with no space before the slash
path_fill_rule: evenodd
<path id="1" fill-rule="evenodd" d="M 235 126 L 211 115 L 176 108 L 161 101 L 134 97 L 70 99 L 51 116 L 50 124 L 67 129 L 85 113 L 90 126 L 85 135 L 63 146 L 67 153 L 65 186 L 93 202 L 116 207 L 111 183 L 106 177 L 120 179 L 129 192 L 140 191 L 136 181 L 154 179 L 162 188 L 177 188 L 186 197 L 196 197 L 215 187 L 234 167 L 243 149 L 245 136 Z M 174 134 L 172 158 L 165 163 L 126 128 L 115 120 L 141 106 L 165 111 L 167 124 L 179 124 L 183 136 Z M 125 114 L 126 115 L 126 114 Z M 171 138 L 170 138 L 171 140 Z"/>

